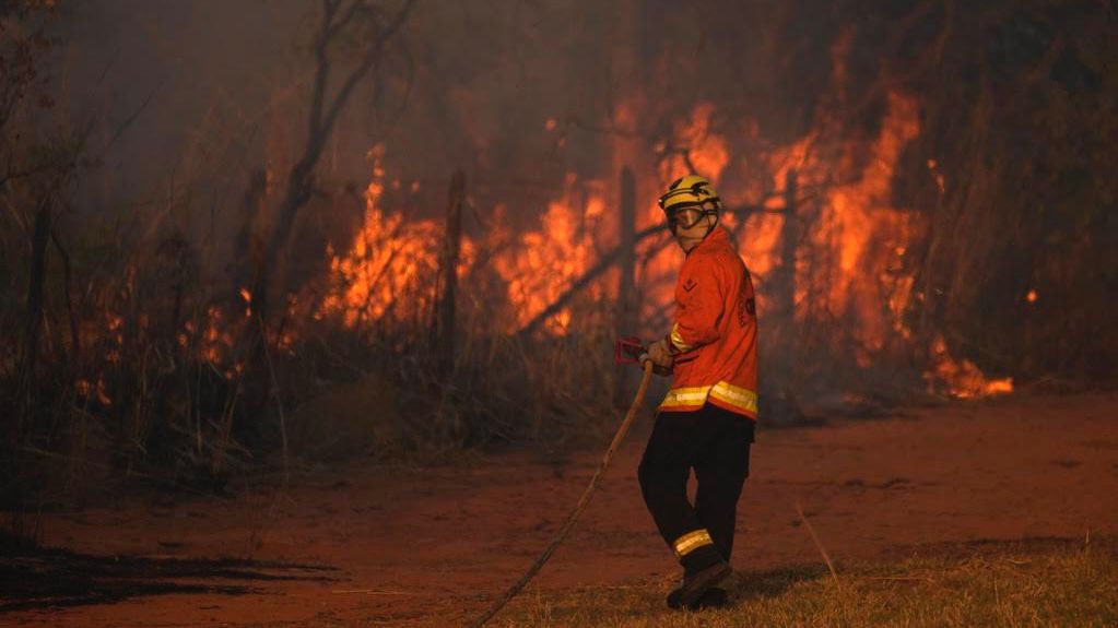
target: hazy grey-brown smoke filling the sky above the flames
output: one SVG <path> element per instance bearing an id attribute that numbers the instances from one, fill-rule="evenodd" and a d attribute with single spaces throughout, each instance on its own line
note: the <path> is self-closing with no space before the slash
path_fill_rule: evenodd
<path id="1" fill-rule="evenodd" d="M 212 212 L 250 172 L 284 177 L 304 142 L 320 19 L 296 0 L 65 3 L 53 89 L 63 122 L 88 133 L 83 204 Z M 566 177 L 614 177 L 618 139 L 651 151 L 700 102 L 727 105 L 717 122 L 731 135 L 760 121 L 795 136 L 833 30 L 825 11 L 767 2 L 420 0 L 339 120 L 320 184 L 363 188 L 382 144 L 389 178 L 419 189 L 409 211 L 440 210 L 463 168 L 474 198 L 530 221 Z M 361 46 L 332 50 L 334 85 Z M 641 115 L 618 123 L 634 93 Z"/>

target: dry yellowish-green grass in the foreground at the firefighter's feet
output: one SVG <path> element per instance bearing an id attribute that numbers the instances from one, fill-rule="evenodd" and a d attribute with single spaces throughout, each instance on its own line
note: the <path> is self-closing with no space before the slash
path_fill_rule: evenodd
<path id="1" fill-rule="evenodd" d="M 667 579 L 631 587 L 530 591 L 491 626 L 1115 627 L 1118 544 L 1092 540 L 982 542 L 922 550 L 893 563 L 741 571 L 731 606 L 695 612 L 664 606 Z"/>

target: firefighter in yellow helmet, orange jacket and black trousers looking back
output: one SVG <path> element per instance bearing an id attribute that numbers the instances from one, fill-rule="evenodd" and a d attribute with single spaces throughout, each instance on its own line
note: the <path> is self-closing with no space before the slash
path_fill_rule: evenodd
<path id="1" fill-rule="evenodd" d="M 656 527 L 683 565 L 672 608 L 722 606 L 738 497 L 749 475 L 757 420 L 757 316 L 754 286 L 719 226 L 721 201 L 694 174 L 660 198 L 686 257 L 675 285 L 671 331 L 648 348 L 672 384 L 657 409 L 638 469 Z M 688 479 L 694 470 L 694 504 Z"/>

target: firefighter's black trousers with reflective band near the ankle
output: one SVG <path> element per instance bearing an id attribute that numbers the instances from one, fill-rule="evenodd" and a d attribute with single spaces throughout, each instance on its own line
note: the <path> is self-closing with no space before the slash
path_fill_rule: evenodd
<path id="1" fill-rule="evenodd" d="M 710 403 L 691 412 L 656 415 L 637 478 L 669 548 L 684 534 L 705 529 L 729 562 L 752 441 L 752 420 Z M 698 483 L 693 505 L 688 499 L 691 469 Z"/>

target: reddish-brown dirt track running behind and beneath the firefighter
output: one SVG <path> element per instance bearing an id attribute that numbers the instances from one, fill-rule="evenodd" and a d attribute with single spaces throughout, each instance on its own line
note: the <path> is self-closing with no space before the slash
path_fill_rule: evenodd
<path id="1" fill-rule="evenodd" d="M 647 419 L 645 419 L 647 420 Z M 674 575 L 631 437 L 533 587 Z M 468 467 L 350 466 L 288 488 L 133 498 L 40 517 L 57 551 L 4 559 L 0 626 L 461 626 L 534 560 L 599 454 Z M 762 430 L 735 567 L 839 563 L 977 540 L 1118 533 L 1118 394 L 1013 397 Z M 7 562 L 8 564 L 4 564 Z M 63 583 L 44 599 L 37 583 Z"/>

